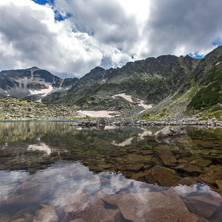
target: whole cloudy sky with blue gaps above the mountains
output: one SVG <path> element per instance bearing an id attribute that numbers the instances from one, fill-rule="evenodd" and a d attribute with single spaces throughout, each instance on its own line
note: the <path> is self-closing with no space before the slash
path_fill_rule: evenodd
<path id="1" fill-rule="evenodd" d="M 96 66 L 222 45 L 221 0 L 0 0 L 0 70 L 82 77 Z"/>

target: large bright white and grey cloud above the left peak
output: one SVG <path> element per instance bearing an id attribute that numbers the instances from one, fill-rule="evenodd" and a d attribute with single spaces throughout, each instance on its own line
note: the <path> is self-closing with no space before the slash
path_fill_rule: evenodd
<path id="1" fill-rule="evenodd" d="M 127 54 L 80 32 L 68 19 L 56 21 L 49 5 L 29 0 L 0 3 L 0 68 L 39 66 L 53 73 L 81 77 L 107 59 L 122 65 Z M 6 19 L 7 18 L 7 19 Z"/>

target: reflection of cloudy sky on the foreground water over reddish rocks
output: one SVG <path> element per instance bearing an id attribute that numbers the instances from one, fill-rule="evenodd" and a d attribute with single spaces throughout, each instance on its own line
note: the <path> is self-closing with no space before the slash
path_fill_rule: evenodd
<path id="1" fill-rule="evenodd" d="M 92 222 L 205 221 L 201 217 L 213 221 L 222 216 L 222 198 L 207 185 L 160 187 L 107 171 L 94 174 L 79 162 L 60 161 L 33 175 L 0 171 L 0 178 L 4 221 L 42 221 L 43 215 L 43 221 Z M 199 208 L 208 213 L 188 210 L 191 194 L 192 201 L 204 203 L 206 209 Z"/>

